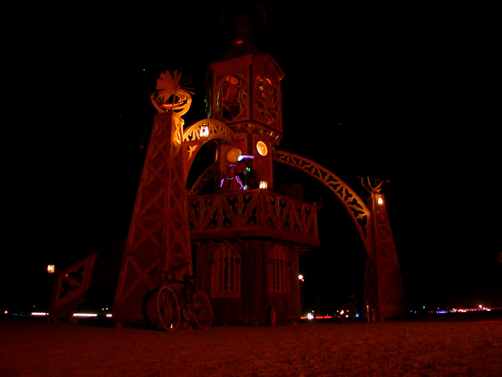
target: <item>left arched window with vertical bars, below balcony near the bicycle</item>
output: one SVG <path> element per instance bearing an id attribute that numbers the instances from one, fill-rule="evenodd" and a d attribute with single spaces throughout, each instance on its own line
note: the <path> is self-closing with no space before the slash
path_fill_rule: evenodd
<path id="1" fill-rule="evenodd" d="M 241 297 L 241 257 L 237 250 L 220 246 L 211 261 L 211 297 Z"/>

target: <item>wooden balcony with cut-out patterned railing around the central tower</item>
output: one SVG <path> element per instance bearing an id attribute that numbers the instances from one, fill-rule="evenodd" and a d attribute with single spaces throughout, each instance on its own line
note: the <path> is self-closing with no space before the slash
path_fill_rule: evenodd
<path id="1" fill-rule="evenodd" d="M 192 241 L 270 239 L 318 246 L 317 208 L 265 190 L 188 197 Z"/>

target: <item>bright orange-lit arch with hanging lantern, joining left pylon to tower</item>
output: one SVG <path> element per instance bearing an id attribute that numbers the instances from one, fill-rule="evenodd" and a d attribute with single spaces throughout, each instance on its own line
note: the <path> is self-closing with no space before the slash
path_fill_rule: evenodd
<path id="1" fill-rule="evenodd" d="M 192 166 L 195 156 L 200 147 L 209 140 L 222 139 L 232 144 L 236 141 L 236 135 L 225 123 L 215 119 L 203 119 L 190 125 L 183 131 L 183 145 L 185 153 L 185 176 Z"/>

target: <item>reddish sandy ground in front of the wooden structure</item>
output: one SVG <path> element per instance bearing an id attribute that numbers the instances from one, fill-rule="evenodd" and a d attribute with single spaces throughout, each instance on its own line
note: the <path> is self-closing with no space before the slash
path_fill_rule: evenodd
<path id="1" fill-rule="evenodd" d="M 17 319 L 0 340 L 0 376 L 502 376 L 501 321 L 167 333 Z"/>

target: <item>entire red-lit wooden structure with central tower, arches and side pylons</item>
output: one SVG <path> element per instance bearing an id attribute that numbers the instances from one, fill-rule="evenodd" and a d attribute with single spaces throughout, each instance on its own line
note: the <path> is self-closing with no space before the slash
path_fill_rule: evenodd
<path id="1" fill-rule="evenodd" d="M 222 61 L 208 68 L 208 118 L 184 128 L 190 105 L 180 75 L 157 80 L 149 148 L 134 206 L 113 305 L 116 323 L 155 323 L 159 270 L 192 262 L 197 290 L 208 294 L 215 322 L 263 323 L 300 317 L 298 255 L 320 244 L 316 206 L 273 192 L 275 163 L 327 186 L 342 202 L 367 250 L 365 300 L 376 318 L 404 316 L 406 305 L 382 194 L 369 208 L 334 173 L 279 151 L 283 137 L 281 67 L 258 50 L 246 17 Z M 211 142 L 215 162 L 187 190 L 190 166 Z M 248 156 L 245 190 L 222 192 L 228 166 Z M 245 180 L 245 178 L 242 178 Z M 213 193 L 200 195 L 208 183 Z M 259 182 L 267 189 L 259 189 Z M 378 194 L 378 197 L 375 195 Z M 187 271 L 188 272 L 188 271 Z"/>

